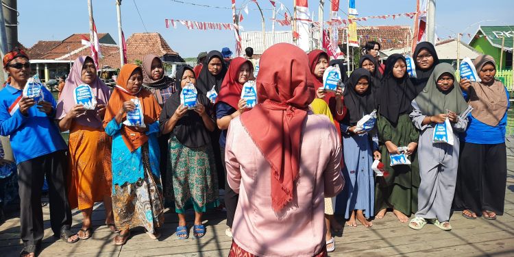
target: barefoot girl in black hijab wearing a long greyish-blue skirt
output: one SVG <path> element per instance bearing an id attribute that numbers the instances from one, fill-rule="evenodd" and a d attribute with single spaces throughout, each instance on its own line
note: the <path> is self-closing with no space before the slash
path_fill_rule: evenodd
<path id="1" fill-rule="evenodd" d="M 371 165 L 374 158 L 380 159 L 376 130 L 356 132 L 357 122 L 366 114 L 376 110 L 371 73 L 367 69 L 356 69 L 345 88 L 345 106 L 348 110 L 341 123 L 345 167 L 343 175 L 346 186 L 343 188 L 346 199 L 346 225 L 356 227 L 356 219 L 366 228 L 373 223 L 367 219 L 374 216 L 375 181 Z M 372 140 L 375 138 L 375 140 Z M 356 151 L 358 150 L 358 151 Z"/>

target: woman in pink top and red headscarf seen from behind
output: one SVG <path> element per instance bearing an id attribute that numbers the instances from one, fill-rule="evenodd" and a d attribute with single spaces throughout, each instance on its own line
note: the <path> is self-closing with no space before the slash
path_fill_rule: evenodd
<path id="1" fill-rule="evenodd" d="M 315 90 L 302 49 L 273 45 L 260 64 L 259 103 L 232 119 L 226 142 L 239 194 L 229 256 L 326 256 L 323 197 L 343 188 L 339 138 L 308 108 Z"/>

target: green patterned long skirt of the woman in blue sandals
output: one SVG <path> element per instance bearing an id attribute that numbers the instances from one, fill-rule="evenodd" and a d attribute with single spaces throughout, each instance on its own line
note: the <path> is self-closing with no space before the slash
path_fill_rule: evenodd
<path id="1" fill-rule="evenodd" d="M 189 148 L 175 136 L 169 139 L 169 174 L 166 197 L 175 201 L 175 212 L 206 212 L 219 206 L 218 175 L 210 145 Z"/>

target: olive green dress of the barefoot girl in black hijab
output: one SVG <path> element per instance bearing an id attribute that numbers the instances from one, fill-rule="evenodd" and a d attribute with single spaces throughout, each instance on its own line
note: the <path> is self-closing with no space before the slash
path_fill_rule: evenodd
<path id="1" fill-rule="evenodd" d="M 411 142 L 417 143 L 419 132 L 414 127 L 408 113 L 400 114 L 396 126 L 393 126 L 386 118 L 379 116 L 377 127 L 382 162 L 389 175 L 376 180 L 375 211 L 394 208 L 410 216 L 417 211 L 417 189 L 420 182 L 417 151 L 408 157 L 412 162 L 411 165 L 391 167 L 391 158 L 389 158 L 389 151 L 384 142 L 390 140 L 397 147 L 406 147 Z"/>

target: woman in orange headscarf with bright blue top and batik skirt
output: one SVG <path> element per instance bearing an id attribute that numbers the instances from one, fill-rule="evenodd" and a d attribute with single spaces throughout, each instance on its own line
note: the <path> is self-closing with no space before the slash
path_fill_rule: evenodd
<path id="1" fill-rule="evenodd" d="M 136 64 L 123 65 L 103 119 L 106 133 L 112 136 L 112 212 L 121 230 L 114 245 L 125 244 L 135 227 L 144 227 L 150 238 L 157 239 L 164 222 L 157 141 L 160 106 L 142 84 L 143 70 Z M 127 114 L 136 110 L 135 99 L 145 127 L 125 124 Z"/>

